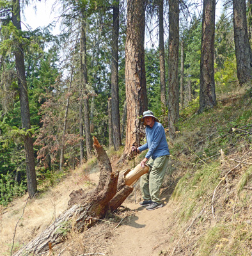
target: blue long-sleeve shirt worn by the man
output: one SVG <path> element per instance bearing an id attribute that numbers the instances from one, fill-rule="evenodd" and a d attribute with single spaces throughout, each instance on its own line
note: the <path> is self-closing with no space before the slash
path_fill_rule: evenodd
<path id="1" fill-rule="evenodd" d="M 148 153 L 146 154 L 146 158 L 152 157 L 155 159 L 159 156 L 169 155 L 168 143 L 166 141 L 166 134 L 164 132 L 164 127 L 159 122 L 155 122 L 153 127 L 149 125 L 145 128 L 146 140 L 147 143 L 145 145 L 139 147 L 139 151 L 142 152 L 147 148 Z"/>

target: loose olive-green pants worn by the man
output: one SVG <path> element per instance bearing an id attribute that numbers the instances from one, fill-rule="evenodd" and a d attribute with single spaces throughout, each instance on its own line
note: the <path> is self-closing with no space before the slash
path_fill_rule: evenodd
<path id="1" fill-rule="evenodd" d="M 141 176 L 140 189 L 144 200 L 152 200 L 161 203 L 159 193 L 164 180 L 164 175 L 168 167 L 169 156 L 160 156 L 156 159 L 150 159 L 147 165 L 150 166 L 148 173 Z"/>

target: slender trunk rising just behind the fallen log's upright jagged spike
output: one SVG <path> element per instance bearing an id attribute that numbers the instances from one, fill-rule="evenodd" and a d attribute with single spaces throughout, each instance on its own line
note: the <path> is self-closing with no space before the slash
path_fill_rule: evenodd
<path id="1" fill-rule="evenodd" d="M 84 111 L 84 128 L 86 135 L 86 154 L 87 158 L 92 157 L 91 133 L 90 133 L 90 111 L 88 107 L 88 95 L 86 93 L 86 84 L 88 84 L 88 70 L 86 67 L 86 17 L 82 12 L 81 22 L 81 72 L 83 78 L 83 111 Z"/>

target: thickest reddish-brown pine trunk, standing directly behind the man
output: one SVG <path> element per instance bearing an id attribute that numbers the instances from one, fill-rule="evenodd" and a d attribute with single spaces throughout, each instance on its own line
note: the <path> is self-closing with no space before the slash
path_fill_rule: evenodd
<path id="1" fill-rule="evenodd" d="M 125 44 L 125 89 L 127 128 L 123 158 L 129 156 L 132 144 L 139 145 L 139 116 L 147 109 L 145 76 L 145 0 L 127 1 L 127 35 Z"/>

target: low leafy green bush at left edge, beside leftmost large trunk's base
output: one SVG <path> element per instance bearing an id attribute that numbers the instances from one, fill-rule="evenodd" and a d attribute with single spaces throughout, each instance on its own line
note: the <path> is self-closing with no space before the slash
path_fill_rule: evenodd
<path id="1" fill-rule="evenodd" d="M 0 204 L 8 205 L 13 199 L 24 195 L 26 186 L 21 181 L 20 184 L 13 180 L 9 172 L 6 175 L 0 174 Z"/>

